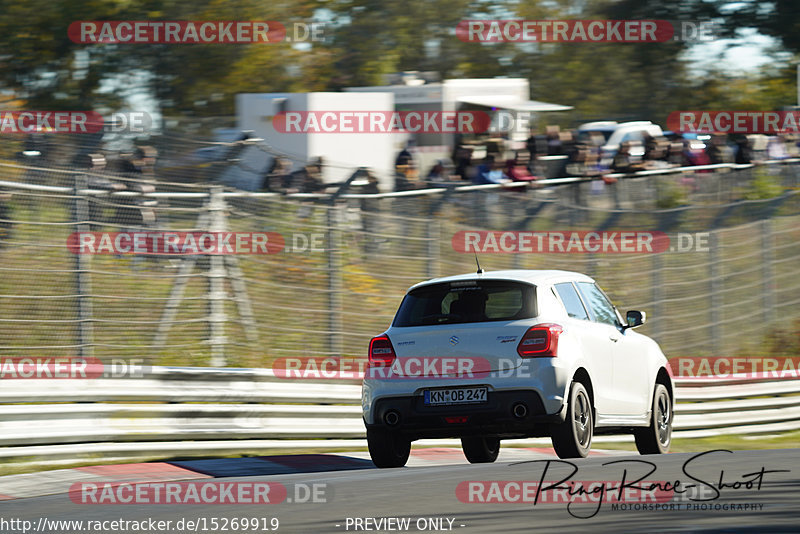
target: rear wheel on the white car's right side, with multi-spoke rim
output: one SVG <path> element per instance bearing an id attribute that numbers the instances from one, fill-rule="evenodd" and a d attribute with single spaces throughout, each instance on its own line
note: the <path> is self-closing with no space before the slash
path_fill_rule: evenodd
<path id="1" fill-rule="evenodd" d="M 592 446 L 594 417 L 586 388 L 573 382 L 569 390 L 567 417 L 553 428 L 551 439 L 559 458 L 586 458 Z"/>

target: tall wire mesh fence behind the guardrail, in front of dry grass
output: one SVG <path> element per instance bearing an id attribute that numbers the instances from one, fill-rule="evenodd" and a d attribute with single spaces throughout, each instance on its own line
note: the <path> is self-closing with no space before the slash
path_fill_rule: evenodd
<path id="1" fill-rule="evenodd" d="M 757 350 L 798 317 L 800 165 L 424 191 L 280 195 L 2 164 L 0 350 L 258 367 L 363 357 L 406 288 L 475 270 L 463 230 L 665 232 L 649 254 L 503 253 L 481 266 L 594 276 L 668 355 Z M 778 195 L 761 199 L 776 186 Z M 76 254 L 86 232 L 263 232 L 270 254 Z M 191 251 L 190 251 L 191 252 Z"/>

